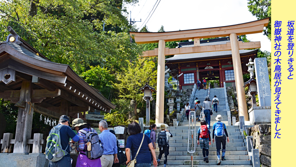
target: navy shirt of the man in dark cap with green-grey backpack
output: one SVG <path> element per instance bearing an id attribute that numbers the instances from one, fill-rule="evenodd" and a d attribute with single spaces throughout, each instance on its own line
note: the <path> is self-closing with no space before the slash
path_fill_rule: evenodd
<path id="1" fill-rule="evenodd" d="M 58 124 L 56 127 L 62 126 L 62 124 Z M 64 125 L 59 130 L 59 135 L 61 137 L 61 145 L 62 149 L 65 150 L 67 146 L 69 146 L 69 140 L 70 138 L 73 139 L 74 142 L 78 142 L 79 137 L 75 132 L 70 128 L 70 126 Z M 70 146 L 66 149 L 68 153 L 70 153 Z M 70 156 L 70 154 L 67 154 L 65 156 Z"/>

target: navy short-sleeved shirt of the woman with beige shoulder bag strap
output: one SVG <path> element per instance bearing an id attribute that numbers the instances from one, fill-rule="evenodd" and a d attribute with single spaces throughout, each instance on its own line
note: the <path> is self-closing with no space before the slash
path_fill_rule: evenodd
<path id="1" fill-rule="evenodd" d="M 140 148 L 139 154 L 136 157 L 137 151 L 140 147 L 140 144 L 143 139 L 143 134 L 138 133 L 138 134 L 133 134 L 128 137 L 126 140 L 126 148 L 131 149 L 131 154 L 132 154 L 132 159 L 136 157 L 137 164 L 138 163 L 151 163 L 151 154 L 149 152 L 149 147 L 148 144 L 152 143 L 151 139 L 147 136 L 144 135 L 144 140 L 142 143 L 142 146 Z"/>

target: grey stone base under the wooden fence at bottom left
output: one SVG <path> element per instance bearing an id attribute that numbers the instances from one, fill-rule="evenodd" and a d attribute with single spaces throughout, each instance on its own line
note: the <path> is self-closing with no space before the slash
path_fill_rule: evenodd
<path id="1" fill-rule="evenodd" d="M 43 153 L 0 153 L 0 167 L 48 167 Z"/>

